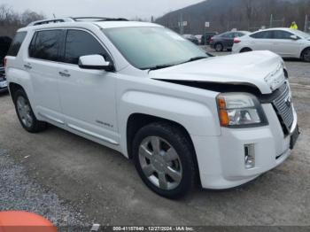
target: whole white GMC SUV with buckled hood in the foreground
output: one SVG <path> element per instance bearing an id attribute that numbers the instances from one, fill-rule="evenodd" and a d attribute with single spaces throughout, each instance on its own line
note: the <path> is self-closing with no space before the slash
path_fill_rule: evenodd
<path id="1" fill-rule="evenodd" d="M 210 57 L 156 24 L 82 20 L 35 22 L 12 43 L 8 86 L 27 131 L 50 123 L 120 151 L 170 198 L 197 181 L 239 186 L 289 157 L 298 123 L 279 56 Z"/>

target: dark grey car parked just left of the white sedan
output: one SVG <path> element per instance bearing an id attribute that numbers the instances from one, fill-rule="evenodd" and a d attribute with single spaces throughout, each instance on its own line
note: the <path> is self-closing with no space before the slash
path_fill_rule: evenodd
<path id="1" fill-rule="evenodd" d="M 210 46 L 216 51 L 231 50 L 234 45 L 234 39 L 236 37 L 242 37 L 250 34 L 247 31 L 230 31 L 222 33 L 221 35 L 214 35 L 210 39 Z"/>

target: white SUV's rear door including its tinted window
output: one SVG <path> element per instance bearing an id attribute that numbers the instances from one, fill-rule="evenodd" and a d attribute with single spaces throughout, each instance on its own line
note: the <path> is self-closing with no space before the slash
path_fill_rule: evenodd
<path id="1" fill-rule="evenodd" d="M 58 94 L 59 51 L 65 30 L 36 31 L 24 68 L 31 74 L 36 112 L 46 120 L 63 124 Z"/>

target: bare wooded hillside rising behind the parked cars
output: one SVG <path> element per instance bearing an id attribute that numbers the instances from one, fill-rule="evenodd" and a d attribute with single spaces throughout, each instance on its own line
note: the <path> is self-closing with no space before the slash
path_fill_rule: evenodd
<path id="1" fill-rule="evenodd" d="M 203 34 L 205 30 L 223 32 L 258 30 L 261 27 L 290 27 L 292 21 L 305 28 L 310 19 L 310 0 L 206 0 L 156 20 L 161 25 L 179 31 L 179 22 L 187 21 L 186 34 Z M 205 28 L 205 22 L 210 27 Z M 310 23 L 306 25 L 310 27 Z"/>

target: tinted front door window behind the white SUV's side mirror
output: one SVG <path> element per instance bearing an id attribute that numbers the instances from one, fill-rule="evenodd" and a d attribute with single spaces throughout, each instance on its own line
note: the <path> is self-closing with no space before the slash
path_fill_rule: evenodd
<path id="1" fill-rule="evenodd" d="M 101 55 L 105 60 L 111 61 L 103 46 L 93 35 L 81 30 L 68 30 L 65 62 L 77 65 L 79 58 L 87 55 Z"/>

